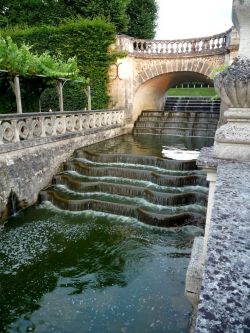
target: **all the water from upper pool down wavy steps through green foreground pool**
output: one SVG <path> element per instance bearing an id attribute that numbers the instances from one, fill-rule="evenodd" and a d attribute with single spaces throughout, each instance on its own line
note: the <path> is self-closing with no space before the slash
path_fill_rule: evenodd
<path id="1" fill-rule="evenodd" d="M 206 180 L 162 149 L 207 140 L 123 136 L 78 150 L 0 233 L 0 332 L 188 332 Z"/>

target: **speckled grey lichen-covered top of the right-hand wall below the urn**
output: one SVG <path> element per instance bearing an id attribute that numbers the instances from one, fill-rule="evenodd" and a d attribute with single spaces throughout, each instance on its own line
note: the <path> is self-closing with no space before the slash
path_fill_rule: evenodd
<path id="1" fill-rule="evenodd" d="M 211 159 L 217 181 L 196 333 L 250 332 L 250 163 Z M 205 157 L 206 156 L 206 157 Z"/>

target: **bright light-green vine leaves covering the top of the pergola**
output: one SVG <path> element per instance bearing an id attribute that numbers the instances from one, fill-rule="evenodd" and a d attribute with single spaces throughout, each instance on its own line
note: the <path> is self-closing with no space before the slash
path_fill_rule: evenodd
<path id="1" fill-rule="evenodd" d="M 47 51 L 38 55 L 30 49 L 31 47 L 24 43 L 18 47 L 9 36 L 0 37 L 0 69 L 7 70 L 11 75 L 40 74 L 51 78 L 82 79 L 75 57 L 63 61 L 52 57 Z"/>

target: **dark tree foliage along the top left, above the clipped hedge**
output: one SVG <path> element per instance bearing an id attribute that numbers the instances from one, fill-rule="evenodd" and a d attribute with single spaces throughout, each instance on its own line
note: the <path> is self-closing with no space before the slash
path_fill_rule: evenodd
<path id="1" fill-rule="evenodd" d="M 10 25 L 58 25 L 64 19 L 103 17 L 126 32 L 130 0 L 0 0 L 0 27 Z M 21 15 L 20 15 L 21 13 Z"/>

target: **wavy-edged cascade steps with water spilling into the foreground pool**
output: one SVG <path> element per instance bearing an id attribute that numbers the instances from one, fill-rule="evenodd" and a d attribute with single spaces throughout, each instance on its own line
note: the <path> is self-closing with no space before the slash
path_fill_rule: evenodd
<path id="1" fill-rule="evenodd" d="M 77 150 L 64 171 L 40 193 L 69 211 L 133 217 L 160 227 L 204 226 L 205 175 L 195 161 Z"/>

